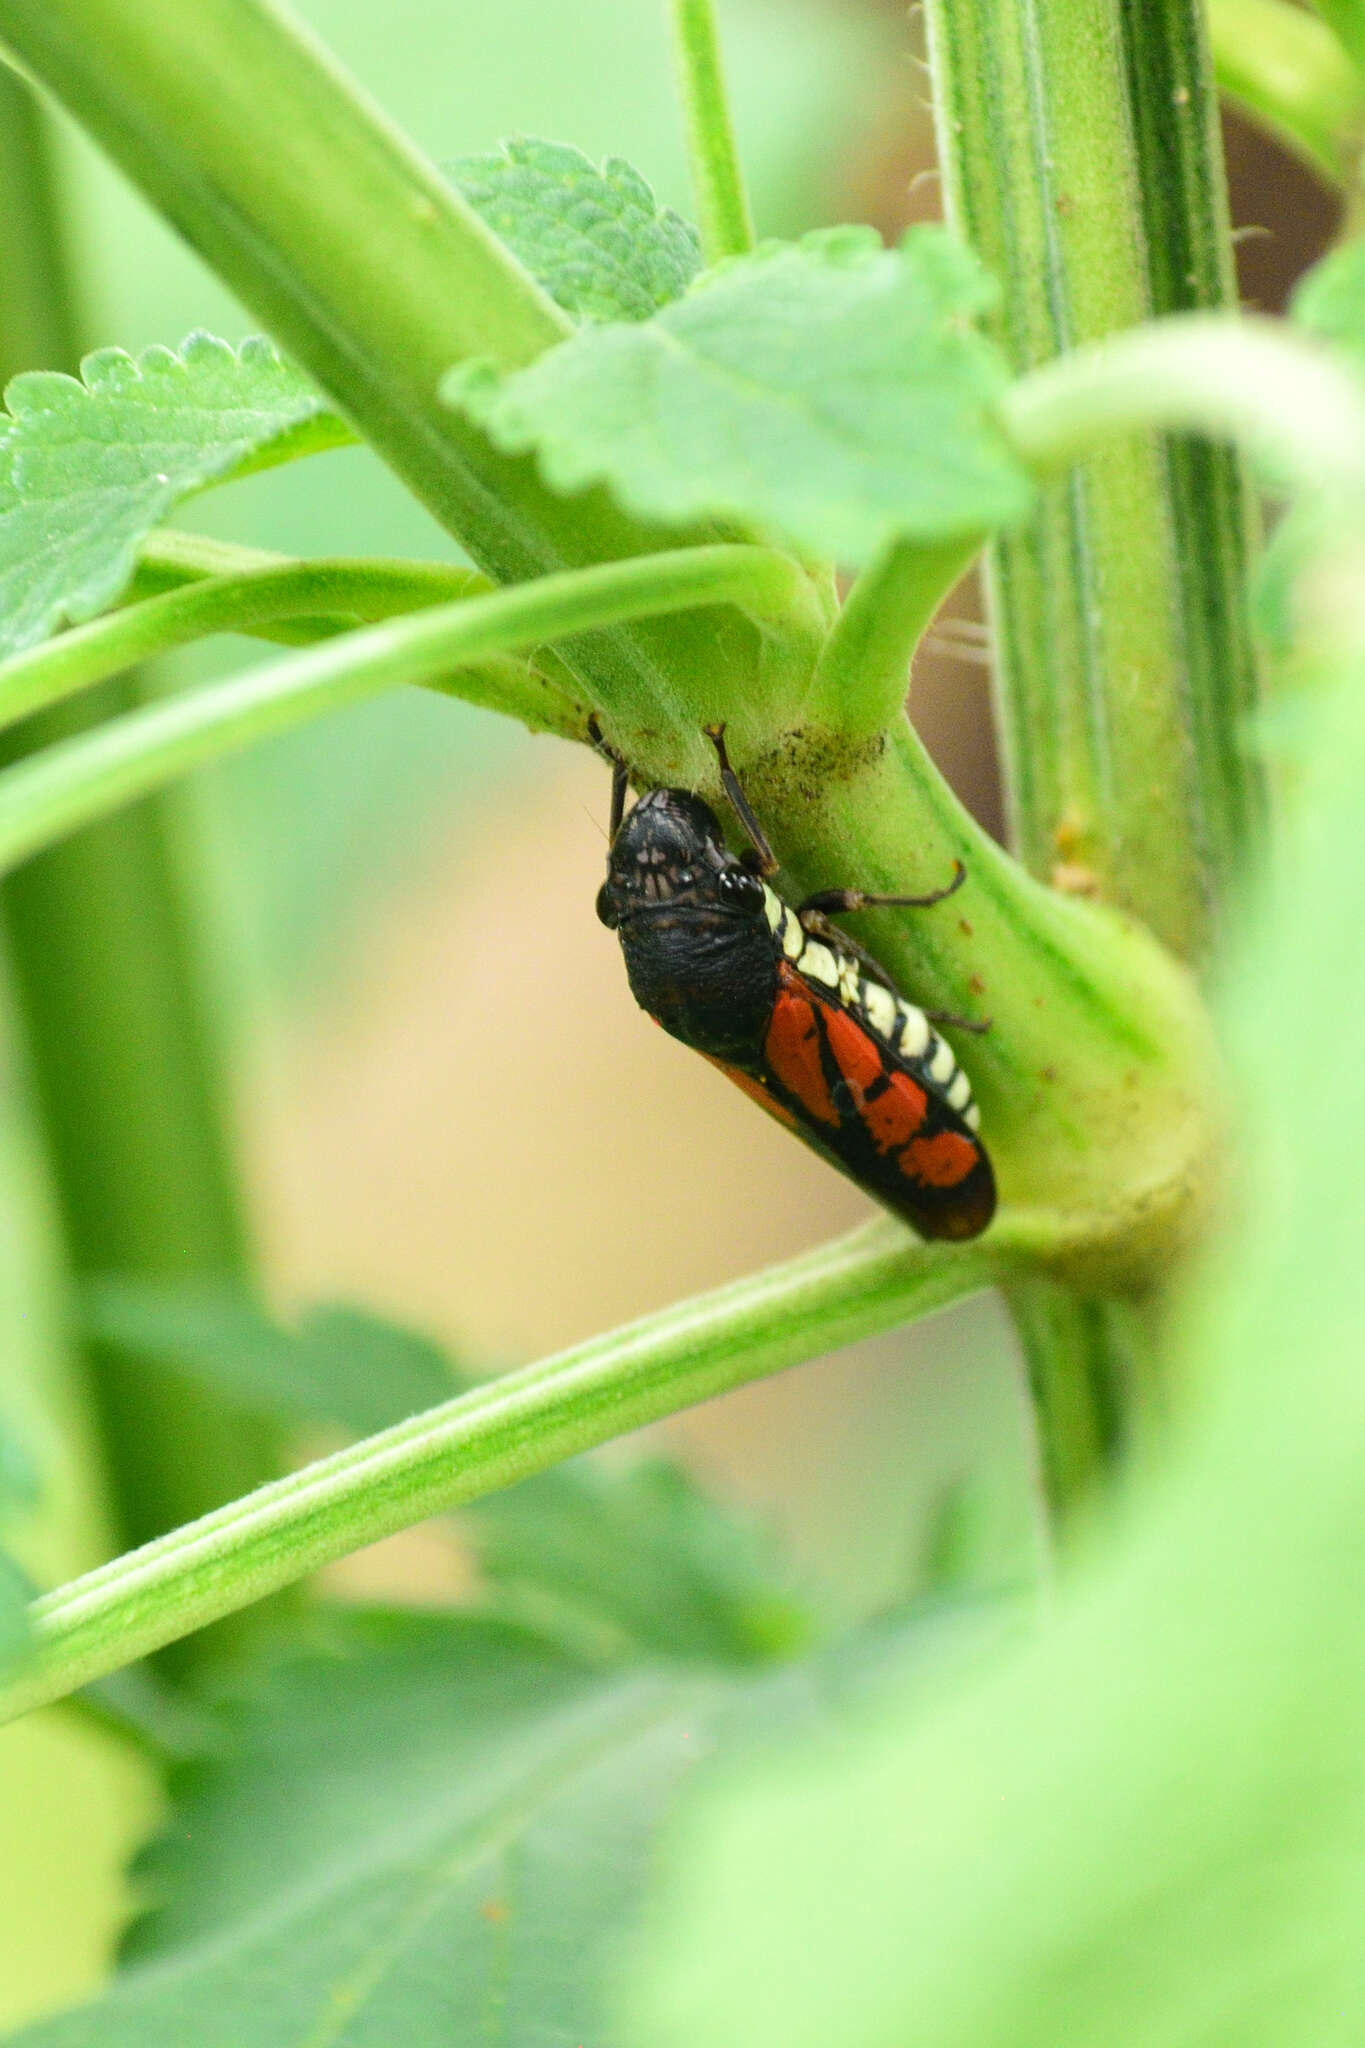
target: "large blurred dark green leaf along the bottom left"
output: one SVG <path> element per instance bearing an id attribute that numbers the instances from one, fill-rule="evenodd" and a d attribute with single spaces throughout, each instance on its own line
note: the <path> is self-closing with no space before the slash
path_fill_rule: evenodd
<path id="1" fill-rule="evenodd" d="M 602 1665 L 487 1620 L 368 1616 L 172 1780 L 151 1913 L 23 2048 L 626 2048 L 606 1987 L 661 1819 L 710 1755 L 839 1731 L 999 1616 L 905 1620 L 761 1677 Z M 720 2036 L 716 2036 L 720 2038 Z"/>

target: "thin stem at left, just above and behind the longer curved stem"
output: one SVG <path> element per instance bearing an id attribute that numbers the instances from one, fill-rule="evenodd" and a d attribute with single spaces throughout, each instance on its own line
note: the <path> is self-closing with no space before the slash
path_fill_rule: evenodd
<path id="1" fill-rule="evenodd" d="M 477 569 L 405 561 L 299 561 L 203 578 L 106 612 L 0 664 L 0 727 L 209 633 L 262 633 L 295 621 L 309 643 L 346 633 L 358 621 L 391 618 L 442 598 L 483 596 L 489 588 Z M 585 707 L 559 698 L 526 664 L 489 657 L 481 680 L 469 676 L 467 684 L 481 702 L 524 717 L 540 731 L 575 737 L 583 731 Z"/>

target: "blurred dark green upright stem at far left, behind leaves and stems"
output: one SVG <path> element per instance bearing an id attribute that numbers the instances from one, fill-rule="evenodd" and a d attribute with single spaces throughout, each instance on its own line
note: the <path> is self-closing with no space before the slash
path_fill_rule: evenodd
<path id="1" fill-rule="evenodd" d="M 0 168 L 0 379 L 27 369 L 74 371 L 78 317 L 49 131 L 29 88 L 4 68 Z M 129 680 L 102 702 L 35 721 L 23 743 L 76 733 L 135 700 Z M 221 1075 L 166 817 L 149 807 L 113 821 L 10 877 L 0 901 L 74 1274 L 239 1270 L 244 1227 Z M 96 1348 L 88 1364 L 111 1520 L 123 1542 L 184 1522 L 274 1468 L 274 1436 L 264 1423 L 207 1393 L 172 1386 L 135 1360 Z"/>

